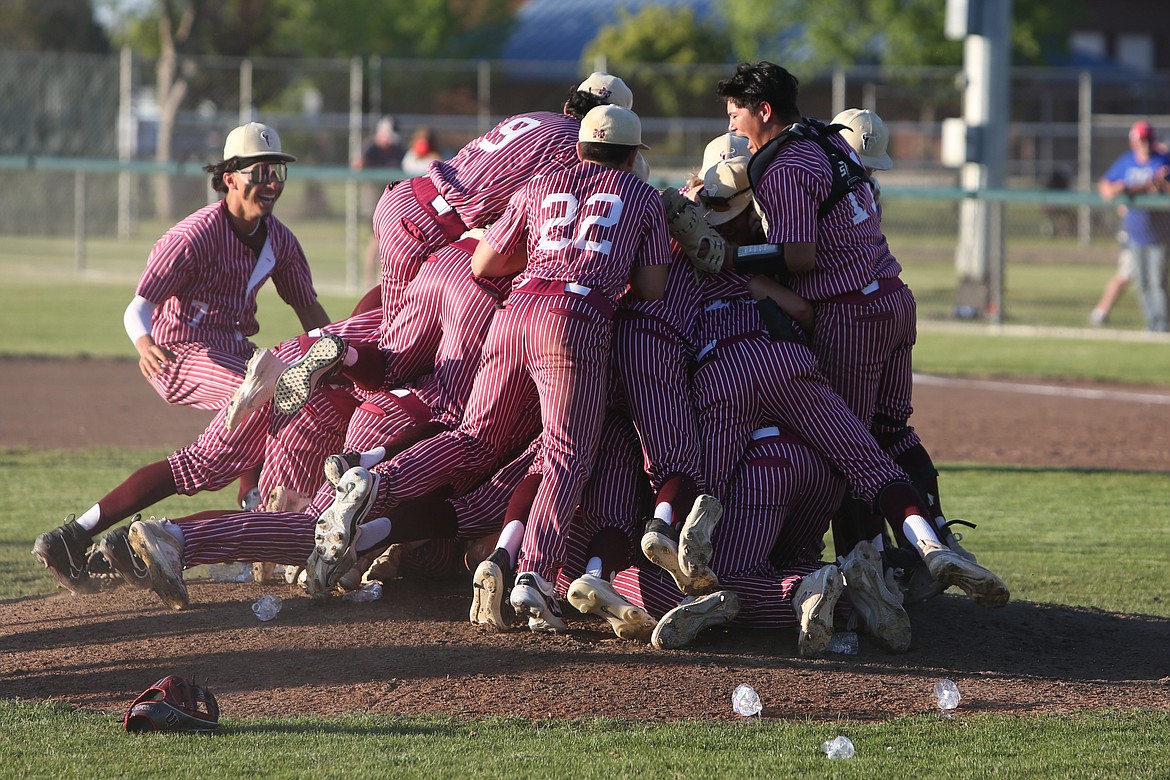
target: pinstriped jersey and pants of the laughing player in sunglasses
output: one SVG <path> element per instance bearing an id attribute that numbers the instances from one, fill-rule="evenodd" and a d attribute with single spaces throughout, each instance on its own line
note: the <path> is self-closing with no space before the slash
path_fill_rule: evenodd
<path id="1" fill-rule="evenodd" d="M 136 294 L 157 305 L 151 337 L 174 353 L 150 380 L 167 401 L 219 409 L 243 378 L 260 330 L 256 292 L 273 278 L 290 306 L 317 299 L 296 236 L 275 216 L 257 257 L 232 229 L 225 203 L 205 206 L 156 242 Z"/>

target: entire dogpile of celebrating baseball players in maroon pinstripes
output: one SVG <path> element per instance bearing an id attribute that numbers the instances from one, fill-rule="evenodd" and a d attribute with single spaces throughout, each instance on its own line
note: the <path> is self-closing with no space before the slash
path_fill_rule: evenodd
<path id="1" fill-rule="evenodd" d="M 834 630 L 904 653 L 907 607 L 950 587 L 1004 606 L 910 424 L 887 130 L 804 117 L 798 92 L 739 64 L 711 90 L 728 132 L 660 191 L 631 89 L 594 73 L 390 184 L 379 284 L 342 319 L 273 214 L 296 158 L 236 127 L 206 167 L 222 198 L 159 239 L 124 318 L 158 394 L 215 417 L 34 554 L 76 595 L 174 609 L 207 564 L 256 561 L 326 609 L 456 574 L 488 631 L 567 631 L 574 609 L 658 649 L 784 629 L 803 657 Z M 305 332 L 261 348 L 268 278 Z M 145 511 L 238 481 L 239 508 Z"/>

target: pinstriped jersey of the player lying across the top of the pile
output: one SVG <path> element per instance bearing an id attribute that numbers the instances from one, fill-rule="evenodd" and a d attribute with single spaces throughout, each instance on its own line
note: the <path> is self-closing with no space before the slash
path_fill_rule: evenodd
<path id="1" fill-rule="evenodd" d="M 564 113 L 518 113 L 432 163 L 427 175 L 464 225 L 487 227 L 529 179 L 577 164 L 579 131 L 580 120 Z"/>

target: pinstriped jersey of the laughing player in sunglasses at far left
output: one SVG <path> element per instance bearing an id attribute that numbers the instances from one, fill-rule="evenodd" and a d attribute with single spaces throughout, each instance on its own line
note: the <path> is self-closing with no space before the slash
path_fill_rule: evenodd
<path id="1" fill-rule="evenodd" d="M 275 216 L 266 225 L 268 251 L 259 258 L 233 232 L 222 201 L 158 240 L 137 289 L 158 304 L 151 327 L 158 344 L 199 343 L 247 357 L 252 346 L 245 339 L 260 330 L 256 291 L 269 276 L 290 306 L 314 304 L 317 294 L 301 243 Z"/>

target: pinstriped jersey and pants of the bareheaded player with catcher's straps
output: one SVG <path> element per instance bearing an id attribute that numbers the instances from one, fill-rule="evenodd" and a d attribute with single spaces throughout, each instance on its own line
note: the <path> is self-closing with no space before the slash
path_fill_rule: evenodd
<path id="1" fill-rule="evenodd" d="M 839 136 L 832 143 L 853 154 Z M 867 426 L 874 410 L 907 420 L 913 407 L 910 350 L 915 341 L 914 295 L 900 279 L 869 187 L 856 187 L 823 219 L 830 193 L 825 152 L 811 140 L 780 147 L 755 187 L 756 202 L 775 243 L 815 242 L 815 268 L 793 274 L 793 291 L 812 302 L 812 348 L 825 375 Z M 918 443 L 910 432 L 907 448 Z"/>

